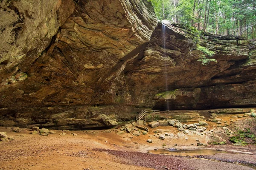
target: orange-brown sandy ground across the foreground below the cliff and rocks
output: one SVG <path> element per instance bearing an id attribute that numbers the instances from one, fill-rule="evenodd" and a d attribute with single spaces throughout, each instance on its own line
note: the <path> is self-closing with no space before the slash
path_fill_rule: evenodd
<path id="1" fill-rule="evenodd" d="M 175 133 L 175 128 L 160 127 L 154 130 Z M 29 129 L 20 133 L 0 127 L 14 136 L 11 142 L 0 142 L 0 170 L 250 170 L 251 167 L 234 163 L 189 159 L 167 155 L 146 153 L 146 150 L 178 144 L 178 147 L 191 147 L 195 139 L 204 142 L 204 137 L 189 136 L 188 140 L 173 139 L 162 141 L 154 136 L 154 130 L 146 135 L 134 136 L 124 133 L 117 135 L 116 130 L 69 131 L 60 136 L 60 130 L 49 136 L 29 134 Z M 78 136 L 72 136 L 75 132 Z M 176 132 L 177 133 L 177 132 Z M 147 143 L 153 139 L 153 143 Z M 195 147 L 195 146 L 194 146 Z M 214 148 L 214 147 L 212 147 Z M 230 145 L 216 147 L 218 149 L 240 150 L 256 153 L 256 147 L 235 147 Z M 207 157 L 206 157 L 207 158 Z M 218 154 L 207 159 L 256 162 L 256 155 Z M 214 167 L 212 167 L 214 166 Z"/>

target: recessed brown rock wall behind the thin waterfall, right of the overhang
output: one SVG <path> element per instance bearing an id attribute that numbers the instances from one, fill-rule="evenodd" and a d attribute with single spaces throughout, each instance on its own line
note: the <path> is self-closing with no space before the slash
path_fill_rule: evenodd
<path id="1" fill-rule="evenodd" d="M 255 106 L 255 42 L 204 39 L 202 45 L 215 52 L 217 62 L 202 65 L 189 31 L 159 24 L 143 57 L 125 68 L 133 100 L 162 111 Z"/>

